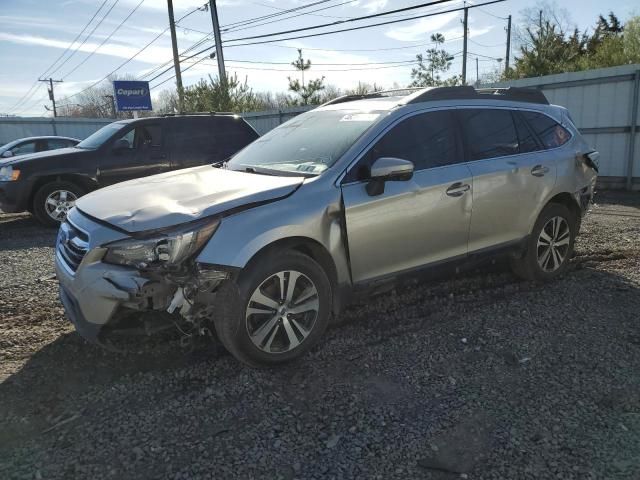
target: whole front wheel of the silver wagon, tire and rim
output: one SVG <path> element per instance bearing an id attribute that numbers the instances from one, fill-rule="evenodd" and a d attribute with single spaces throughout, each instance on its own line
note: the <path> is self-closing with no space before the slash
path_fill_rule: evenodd
<path id="1" fill-rule="evenodd" d="M 252 367 L 288 362 L 320 339 L 331 312 L 331 284 L 320 265 L 295 251 L 252 262 L 235 300 L 221 298 L 215 319 L 222 344 Z M 232 303 L 233 305 L 230 305 Z"/>

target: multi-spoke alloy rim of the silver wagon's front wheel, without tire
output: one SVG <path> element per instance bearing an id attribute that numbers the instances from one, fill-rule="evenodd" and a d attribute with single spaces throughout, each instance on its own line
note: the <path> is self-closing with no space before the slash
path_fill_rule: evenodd
<path id="1" fill-rule="evenodd" d="M 246 328 L 253 344 L 265 353 L 286 353 L 298 347 L 318 318 L 318 289 L 295 270 L 264 280 L 249 299 Z"/>

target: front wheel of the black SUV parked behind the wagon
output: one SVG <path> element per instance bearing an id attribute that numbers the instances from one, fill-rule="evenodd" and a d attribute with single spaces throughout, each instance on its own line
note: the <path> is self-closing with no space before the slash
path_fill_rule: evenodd
<path id="1" fill-rule="evenodd" d="M 84 189 L 71 182 L 47 183 L 33 197 L 33 214 L 43 225 L 56 227 L 84 193 Z"/>

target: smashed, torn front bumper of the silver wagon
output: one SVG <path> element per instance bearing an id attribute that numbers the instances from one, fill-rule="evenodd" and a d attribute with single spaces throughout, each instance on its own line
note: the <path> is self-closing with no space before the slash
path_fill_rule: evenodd
<path id="1" fill-rule="evenodd" d="M 176 320 L 202 322 L 210 315 L 216 289 L 233 274 L 195 263 L 181 275 L 143 272 L 105 263 L 104 253 L 101 248 L 89 250 L 74 268 L 64 248 L 56 246 L 60 300 L 78 333 L 92 342 L 99 342 L 107 327 L 139 331 L 131 328 L 141 317 L 136 313 L 167 312 Z M 160 322 L 162 316 L 157 318 Z"/>

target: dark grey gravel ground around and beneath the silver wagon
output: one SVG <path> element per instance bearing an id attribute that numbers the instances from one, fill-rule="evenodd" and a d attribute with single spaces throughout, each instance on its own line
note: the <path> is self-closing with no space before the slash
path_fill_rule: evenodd
<path id="1" fill-rule="evenodd" d="M 553 284 L 498 263 L 404 286 L 269 371 L 85 343 L 54 236 L 0 215 L 0 478 L 640 478 L 638 194 L 598 198 Z"/>

